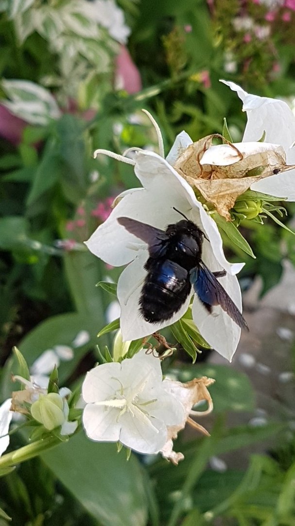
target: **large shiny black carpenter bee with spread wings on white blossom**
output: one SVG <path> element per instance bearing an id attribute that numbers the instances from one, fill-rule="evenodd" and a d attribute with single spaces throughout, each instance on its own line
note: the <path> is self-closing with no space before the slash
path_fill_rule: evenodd
<path id="1" fill-rule="evenodd" d="M 149 259 L 144 265 L 148 274 L 139 300 L 141 315 L 149 323 L 169 320 L 184 304 L 193 286 L 209 313 L 214 305 L 220 305 L 239 327 L 248 328 L 217 279 L 225 276 L 226 271 L 212 272 L 202 261 L 204 232 L 176 211 L 185 219 L 165 230 L 129 217 L 118 218 L 120 225 L 149 246 Z"/>

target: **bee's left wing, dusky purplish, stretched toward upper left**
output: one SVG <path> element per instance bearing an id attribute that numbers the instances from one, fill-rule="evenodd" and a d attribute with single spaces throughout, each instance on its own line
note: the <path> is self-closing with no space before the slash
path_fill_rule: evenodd
<path id="1" fill-rule="evenodd" d="M 169 238 L 164 230 L 152 227 L 136 219 L 131 219 L 131 217 L 118 217 L 117 221 L 128 230 L 130 234 L 134 234 L 134 236 L 142 239 L 149 245 L 149 254 L 151 257 L 161 257 L 165 255 L 166 242 Z"/>

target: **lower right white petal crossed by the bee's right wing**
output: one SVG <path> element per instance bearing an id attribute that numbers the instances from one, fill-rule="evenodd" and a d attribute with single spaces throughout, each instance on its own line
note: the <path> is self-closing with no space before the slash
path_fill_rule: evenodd
<path id="1" fill-rule="evenodd" d="M 241 310 L 241 291 L 236 276 L 227 274 L 218 281 Z M 195 295 L 192 313 L 199 332 L 213 349 L 231 361 L 240 339 L 241 329 L 219 305 L 212 310 L 210 314 Z"/>

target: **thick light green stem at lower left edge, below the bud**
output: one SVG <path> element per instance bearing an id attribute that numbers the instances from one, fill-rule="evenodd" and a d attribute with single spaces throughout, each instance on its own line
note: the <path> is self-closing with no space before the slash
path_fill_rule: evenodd
<path id="1" fill-rule="evenodd" d="M 57 446 L 58 444 L 60 444 L 60 440 L 57 437 L 50 436 L 37 440 L 36 442 L 23 446 L 15 451 L 11 451 L 10 453 L 6 453 L 0 458 L 0 470 L 37 457 L 40 453 L 43 453 L 43 451 Z"/>

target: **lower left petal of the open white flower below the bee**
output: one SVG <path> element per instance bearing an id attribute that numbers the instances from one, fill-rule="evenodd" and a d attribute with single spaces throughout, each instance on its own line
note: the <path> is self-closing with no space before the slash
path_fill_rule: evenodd
<path id="1" fill-rule="evenodd" d="M 99 366 L 101 367 L 101 366 Z M 88 403 L 83 411 L 83 427 L 91 440 L 118 442 L 121 423 L 117 422 L 120 409 Z"/>

